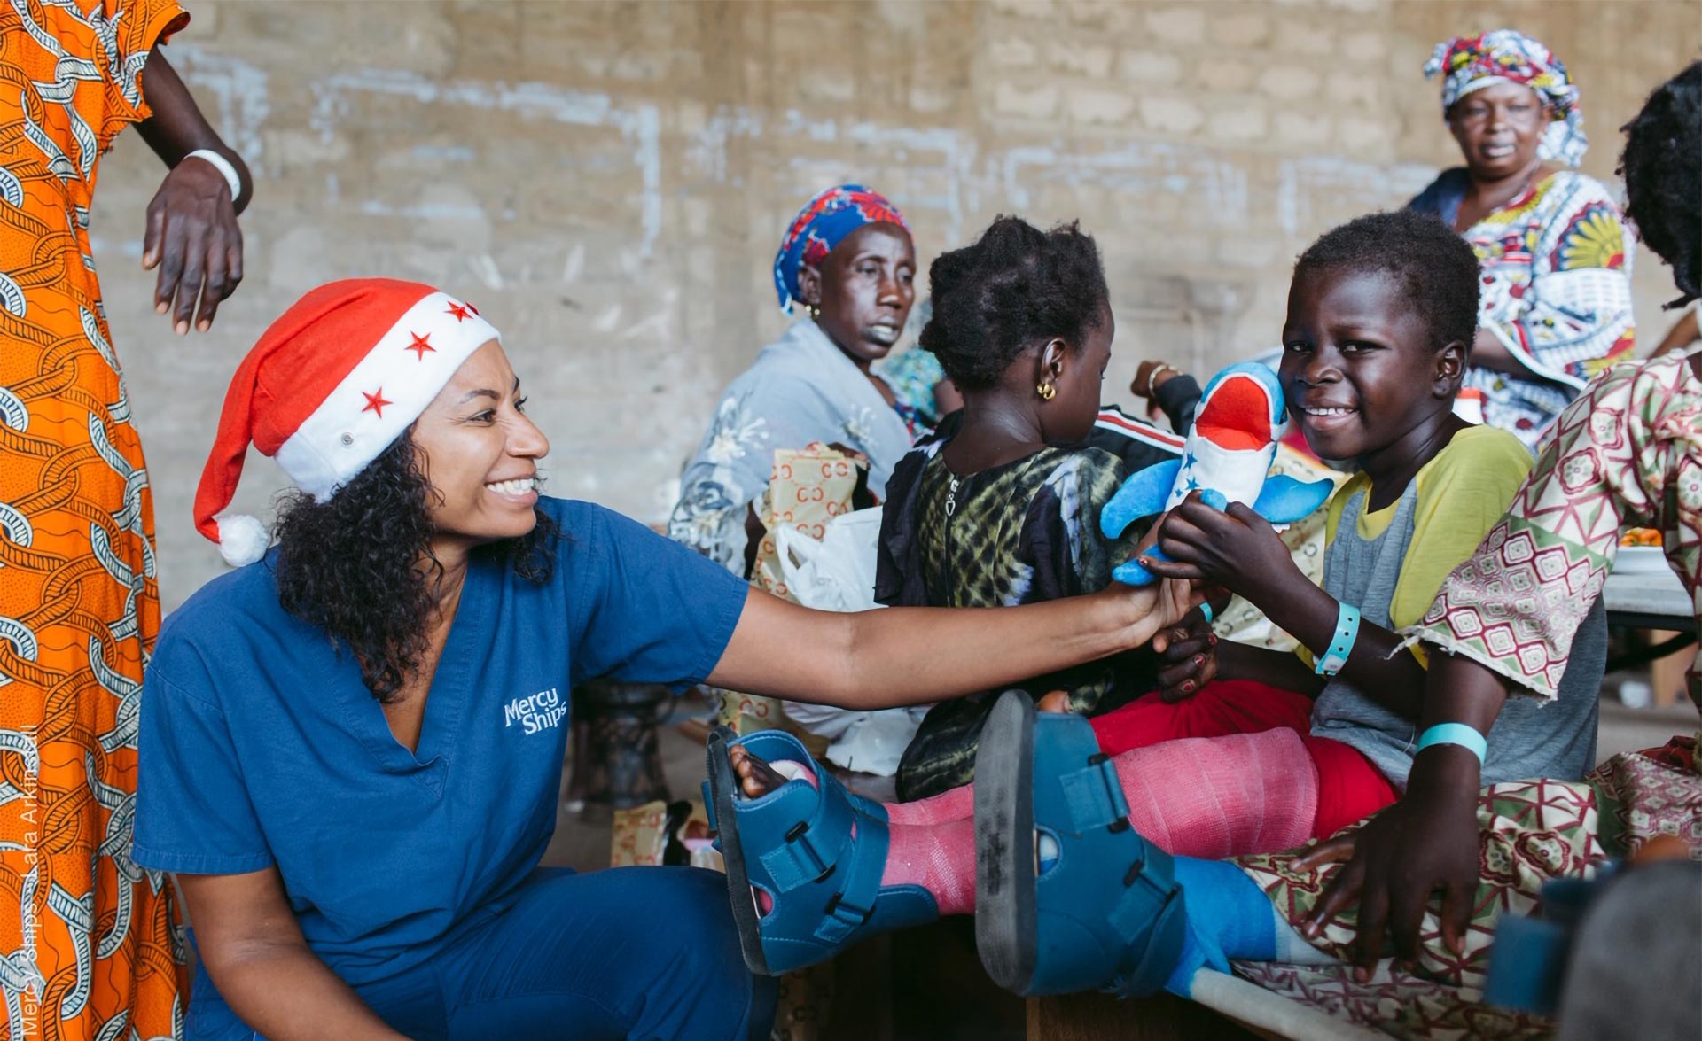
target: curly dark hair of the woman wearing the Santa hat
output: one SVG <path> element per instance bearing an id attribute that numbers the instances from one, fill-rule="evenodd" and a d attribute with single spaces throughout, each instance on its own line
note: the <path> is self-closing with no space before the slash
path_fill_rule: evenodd
<path id="1" fill-rule="evenodd" d="M 429 503 L 439 492 L 419 466 L 412 427 L 327 502 L 286 493 L 277 507 L 277 599 L 284 611 L 347 646 L 380 703 L 391 703 L 420 667 L 443 565 L 431 555 Z M 473 551 L 528 582 L 555 570 L 555 519 L 517 539 Z M 419 561 L 429 561 L 419 566 Z"/>

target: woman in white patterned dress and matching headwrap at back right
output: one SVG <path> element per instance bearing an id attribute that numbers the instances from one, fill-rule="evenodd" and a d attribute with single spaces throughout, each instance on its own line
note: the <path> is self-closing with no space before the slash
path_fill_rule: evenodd
<path id="1" fill-rule="evenodd" d="M 1535 449 L 1590 378 L 1631 357 L 1631 248 L 1585 155 L 1578 87 L 1545 46 L 1513 29 L 1436 44 L 1442 111 L 1464 167 L 1409 202 L 1477 250 L 1482 299 L 1465 386 L 1484 422 Z M 1559 163 L 1564 168 L 1554 168 Z"/>

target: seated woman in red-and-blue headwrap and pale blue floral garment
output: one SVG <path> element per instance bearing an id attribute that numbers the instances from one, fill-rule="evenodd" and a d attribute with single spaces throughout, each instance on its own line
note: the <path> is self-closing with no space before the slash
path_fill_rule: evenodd
<path id="1" fill-rule="evenodd" d="M 911 451 L 914 410 L 871 371 L 916 301 L 916 247 L 899 208 L 842 184 L 798 211 L 774 257 L 780 310 L 807 318 L 769 344 L 715 407 L 667 522 L 672 539 L 745 573 L 756 500 L 774 449 L 837 444 L 868 456 L 880 495 Z"/>

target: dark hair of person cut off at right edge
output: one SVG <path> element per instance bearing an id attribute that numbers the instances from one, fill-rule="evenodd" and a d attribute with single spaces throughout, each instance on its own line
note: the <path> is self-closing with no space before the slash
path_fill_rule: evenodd
<path id="1" fill-rule="evenodd" d="M 1673 267 L 1682 308 L 1702 296 L 1702 61 L 1661 83 L 1627 122 L 1619 175 L 1642 243 Z"/>

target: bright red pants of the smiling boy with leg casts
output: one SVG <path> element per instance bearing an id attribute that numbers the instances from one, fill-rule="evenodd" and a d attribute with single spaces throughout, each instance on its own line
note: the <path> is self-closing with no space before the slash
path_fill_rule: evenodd
<path id="1" fill-rule="evenodd" d="M 1287 726 L 1300 735 L 1317 765 L 1317 820 L 1312 823 L 1316 839 L 1334 835 L 1399 798 L 1382 771 L 1358 748 L 1312 737 L 1311 697 L 1253 680 L 1215 680 L 1174 704 L 1147 694 L 1089 723 L 1106 755 L 1176 738 L 1263 733 Z"/>

